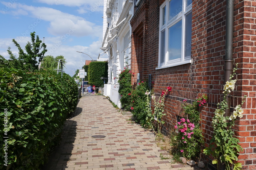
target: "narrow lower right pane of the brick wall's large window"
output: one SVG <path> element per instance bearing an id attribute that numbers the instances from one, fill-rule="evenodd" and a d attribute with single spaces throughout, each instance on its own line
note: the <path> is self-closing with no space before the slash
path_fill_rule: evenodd
<path id="1" fill-rule="evenodd" d="M 192 12 L 186 16 L 185 57 L 191 56 Z"/>

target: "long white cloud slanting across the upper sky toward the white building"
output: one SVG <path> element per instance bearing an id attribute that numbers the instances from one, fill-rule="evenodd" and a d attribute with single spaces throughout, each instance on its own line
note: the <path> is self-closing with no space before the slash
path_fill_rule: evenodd
<path id="1" fill-rule="evenodd" d="M 34 7 L 22 4 L 13 4 L 11 7 L 14 10 L 9 10 L 12 15 L 29 15 L 33 18 L 38 18 L 36 25 L 41 21 L 49 21 L 50 26 L 48 32 L 55 36 L 64 36 L 72 34 L 72 36 L 92 36 L 100 37 L 102 34 L 102 25 L 96 25 L 82 17 L 71 15 L 60 10 L 48 7 Z M 36 26 L 31 24 L 31 28 Z"/>

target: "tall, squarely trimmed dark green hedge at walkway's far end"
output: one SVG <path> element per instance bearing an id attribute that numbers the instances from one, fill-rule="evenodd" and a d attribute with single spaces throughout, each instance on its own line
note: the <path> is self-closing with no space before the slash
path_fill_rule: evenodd
<path id="1" fill-rule="evenodd" d="M 89 81 L 88 83 L 90 85 L 95 85 L 95 87 L 103 87 L 104 80 L 101 80 L 100 77 L 108 77 L 108 62 L 106 61 L 90 62 L 89 68 L 88 68 L 88 81 Z"/>

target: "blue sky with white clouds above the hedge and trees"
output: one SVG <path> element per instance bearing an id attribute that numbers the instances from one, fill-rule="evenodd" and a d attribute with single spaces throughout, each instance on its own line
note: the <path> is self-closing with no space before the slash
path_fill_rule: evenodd
<path id="1" fill-rule="evenodd" d="M 45 56 L 64 56 L 64 71 L 72 76 L 85 60 L 97 60 L 103 52 L 102 17 L 103 0 L 0 0 L 0 55 L 8 59 L 11 47 L 18 57 L 12 40 L 25 49 L 35 32 L 47 46 Z"/>

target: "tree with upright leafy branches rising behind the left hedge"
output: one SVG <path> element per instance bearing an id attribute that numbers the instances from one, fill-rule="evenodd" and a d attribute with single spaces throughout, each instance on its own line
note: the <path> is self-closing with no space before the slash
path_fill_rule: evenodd
<path id="1" fill-rule="evenodd" d="M 46 53 L 47 49 L 45 43 L 42 43 L 39 36 L 35 35 L 35 32 L 32 32 L 30 36 L 31 42 L 28 42 L 25 46 L 26 53 L 20 47 L 17 41 L 13 39 L 12 42 L 19 50 L 19 57 L 16 58 L 16 56 L 12 53 L 11 48 L 8 47 L 7 52 L 10 56 L 10 60 L 4 60 L 4 58 L 0 57 L 0 64 L 6 62 L 7 67 L 31 71 L 37 70 L 38 65 L 44 58 L 44 54 Z"/>

